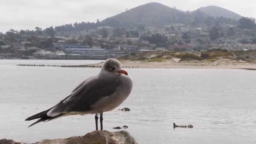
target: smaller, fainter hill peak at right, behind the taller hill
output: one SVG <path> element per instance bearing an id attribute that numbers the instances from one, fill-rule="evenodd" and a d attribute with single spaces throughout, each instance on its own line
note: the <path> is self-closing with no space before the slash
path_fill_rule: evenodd
<path id="1" fill-rule="evenodd" d="M 204 13 L 209 14 L 210 16 L 223 16 L 226 18 L 231 18 L 231 19 L 236 19 L 239 20 L 242 16 L 234 13 L 230 10 L 224 9 L 222 7 L 217 7 L 217 6 L 208 6 L 208 7 L 200 7 L 198 10 L 203 11 Z"/>

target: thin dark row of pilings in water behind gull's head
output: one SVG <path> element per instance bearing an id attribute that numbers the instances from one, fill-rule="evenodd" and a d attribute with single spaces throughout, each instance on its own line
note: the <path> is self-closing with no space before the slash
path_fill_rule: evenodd
<path id="1" fill-rule="evenodd" d="M 53 66 L 53 67 L 67 67 L 67 68 L 101 68 L 101 65 L 29 65 L 19 64 L 17 66 Z M 123 66 L 123 68 L 139 68 L 138 66 Z"/>

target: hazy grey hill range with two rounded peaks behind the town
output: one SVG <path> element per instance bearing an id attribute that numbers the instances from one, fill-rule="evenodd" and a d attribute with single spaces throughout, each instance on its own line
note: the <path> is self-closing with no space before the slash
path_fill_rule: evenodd
<path id="1" fill-rule="evenodd" d="M 214 16 L 214 17 L 213 17 Z M 223 16 L 223 17 L 215 17 Z M 183 23 L 192 26 L 205 24 L 207 26 L 216 25 L 216 23 L 225 23 L 236 25 L 236 20 L 241 16 L 221 7 L 209 6 L 201 7 L 191 12 L 177 10 L 167 7 L 161 3 L 147 3 L 131 10 L 126 10 L 118 15 L 106 18 L 97 23 L 74 23 L 62 26 L 56 26 L 56 32 L 70 32 L 84 29 L 95 29 L 98 26 L 111 26 L 113 28 L 128 28 L 142 31 L 145 26 L 161 28 L 166 25 Z"/>

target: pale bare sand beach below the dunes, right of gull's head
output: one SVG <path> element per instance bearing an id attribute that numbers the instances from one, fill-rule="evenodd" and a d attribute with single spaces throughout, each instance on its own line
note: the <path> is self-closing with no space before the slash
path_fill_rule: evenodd
<path id="1" fill-rule="evenodd" d="M 123 68 L 161 68 L 161 69 L 256 69 L 256 63 L 236 62 L 221 59 L 215 62 L 187 61 L 176 62 L 166 60 L 164 62 L 122 61 Z M 92 64 L 101 66 L 103 62 Z"/>

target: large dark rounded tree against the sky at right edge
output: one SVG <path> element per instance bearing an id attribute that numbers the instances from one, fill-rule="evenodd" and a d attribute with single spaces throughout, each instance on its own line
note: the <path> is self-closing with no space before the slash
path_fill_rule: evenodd
<path id="1" fill-rule="evenodd" d="M 242 17 L 240 20 L 238 20 L 238 27 L 241 29 L 255 29 L 255 19 L 252 17 Z"/>

